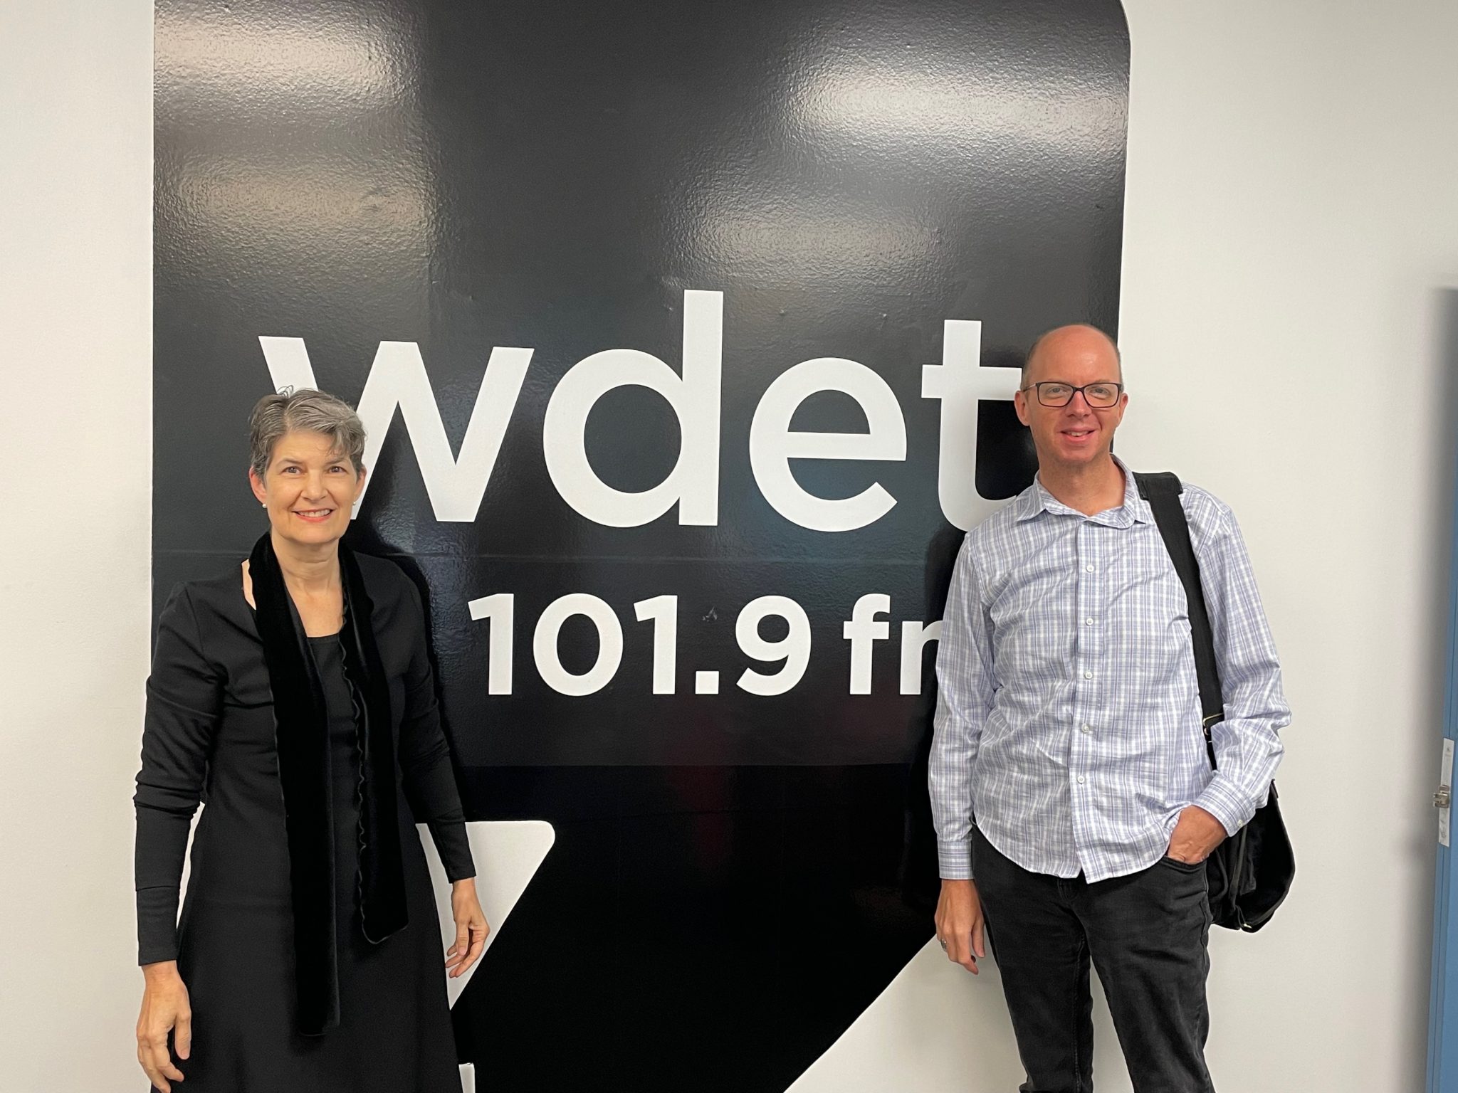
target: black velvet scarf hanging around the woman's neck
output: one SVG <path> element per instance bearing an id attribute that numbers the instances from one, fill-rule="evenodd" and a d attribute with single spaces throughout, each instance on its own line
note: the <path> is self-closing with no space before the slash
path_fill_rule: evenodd
<path id="1" fill-rule="evenodd" d="M 278 780 L 289 831 L 296 1027 L 305 1036 L 318 1036 L 340 1023 L 328 710 L 303 621 L 289 596 L 270 535 L 254 545 L 248 565 L 273 689 Z M 340 641 L 346 672 L 360 698 L 356 704 L 360 921 L 364 937 L 379 943 L 407 921 L 389 685 L 375 643 L 373 605 L 359 561 L 343 544 L 340 577 L 344 584 Z"/>

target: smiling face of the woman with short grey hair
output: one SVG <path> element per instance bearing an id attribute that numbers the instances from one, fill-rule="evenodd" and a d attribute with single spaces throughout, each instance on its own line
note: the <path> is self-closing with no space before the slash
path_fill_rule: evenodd
<path id="1" fill-rule="evenodd" d="M 254 497 L 268 509 L 274 533 L 300 545 L 337 542 L 350 526 L 350 510 L 364 490 L 364 468 L 334 449 L 322 433 L 286 433 L 274 444 L 260 479 L 249 468 Z"/>

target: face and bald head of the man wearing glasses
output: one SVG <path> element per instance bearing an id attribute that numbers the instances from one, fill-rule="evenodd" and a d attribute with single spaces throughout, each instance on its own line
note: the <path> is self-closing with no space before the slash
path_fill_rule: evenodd
<path id="1" fill-rule="evenodd" d="M 1128 396 L 1118 391 L 1112 405 L 1098 407 L 1089 405 L 1089 395 L 1094 393 L 1096 402 L 1099 392 L 1079 391 L 1067 405 L 1047 407 L 1040 401 L 1035 385 L 1045 385 L 1044 396 L 1053 396 L 1048 401 L 1061 401 L 1067 388 L 1115 385 L 1121 379 L 1112 344 L 1092 328 L 1067 326 L 1038 344 L 1013 405 L 1018 420 L 1032 430 L 1040 466 L 1073 469 L 1107 456 L 1114 430 L 1124 420 Z M 1047 385 L 1063 385 L 1064 389 Z"/>

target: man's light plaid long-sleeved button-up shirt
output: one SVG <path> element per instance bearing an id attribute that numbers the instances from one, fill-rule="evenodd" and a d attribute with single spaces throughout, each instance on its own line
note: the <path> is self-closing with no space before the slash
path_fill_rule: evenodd
<path id="1" fill-rule="evenodd" d="M 956 557 L 930 759 L 946 879 L 972 876 L 974 822 L 1024 869 L 1095 882 L 1158 861 L 1188 804 L 1233 834 L 1266 800 L 1290 710 L 1235 516 L 1185 485 L 1225 692 L 1212 771 L 1184 587 L 1120 468 L 1120 507 L 1035 481 Z"/>

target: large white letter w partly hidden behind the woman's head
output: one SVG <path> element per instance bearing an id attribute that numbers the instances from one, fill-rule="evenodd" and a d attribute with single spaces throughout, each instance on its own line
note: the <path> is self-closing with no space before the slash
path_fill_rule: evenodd
<path id="1" fill-rule="evenodd" d="M 303 338 L 260 337 L 258 344 L 264 350 L 276 389 L 318 386 Z M 531 350 L 491 350 L 471 410 L 471 421 L 461 440 L 461 458 L 456 459 L 451 453 L 451 442 L 446 439 L 436 395 L 430 389 L 420 347 L 413 341 L 382 341 L 359 404 L 366 431 L 364 466 L 375 466 L 395 408 L 399 407 L 436 519 L 458 523 L 475 520 L 531 360 Z M 364 491 L 369 491 L 367 478 Z M 360 493 L 360 503 L 363 500 L 364 493 Z M 354 514 L 359 514 L 359 503 Z"/>

